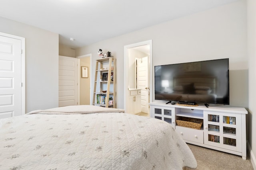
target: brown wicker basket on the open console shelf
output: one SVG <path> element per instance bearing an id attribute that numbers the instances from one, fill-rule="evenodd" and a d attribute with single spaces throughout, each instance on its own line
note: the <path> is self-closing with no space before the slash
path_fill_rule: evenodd
<path id="1" fill-rule="evenodd" d="M 191 117 L 179 117 L 176 119 L 176 123 L 178 126 L 189 127 L 192 129 L 201 129 L 203 120 Z"/>

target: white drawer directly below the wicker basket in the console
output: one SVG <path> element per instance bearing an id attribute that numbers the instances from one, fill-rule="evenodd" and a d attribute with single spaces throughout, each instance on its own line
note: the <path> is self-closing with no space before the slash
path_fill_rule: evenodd
<path id="1" fill-rule="evenodd" d="M 191 129 L 188 127 L 176 126 L 176 131 L 182 135 L 182 139 L 193 141 L 197 143 L 204 143 L 204 131 Z"/>

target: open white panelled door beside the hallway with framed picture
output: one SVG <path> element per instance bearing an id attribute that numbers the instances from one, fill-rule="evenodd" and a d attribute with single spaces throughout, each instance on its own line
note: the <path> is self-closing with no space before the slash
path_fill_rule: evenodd
<path id="1" fill-rule="evenodd" d="M 59 107 L 78 105 L 78 59 L 59 56 Z"/>

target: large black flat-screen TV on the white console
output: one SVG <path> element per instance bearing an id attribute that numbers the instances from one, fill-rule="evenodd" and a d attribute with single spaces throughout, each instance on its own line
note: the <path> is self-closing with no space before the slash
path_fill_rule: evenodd
<path id="1" fill-rule="evenodd" d="M 155 66 L 155 100 L 229 105 L 228 59 Z"/>

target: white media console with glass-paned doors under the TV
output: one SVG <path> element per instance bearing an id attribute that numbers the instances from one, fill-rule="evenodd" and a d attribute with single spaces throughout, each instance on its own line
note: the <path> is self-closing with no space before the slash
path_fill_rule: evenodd
<path id="1" fill-rule="evenodd" d="M 243 107 L 150 103 L 150 117 L 170 123 L 186 143 L 240 155 L 243 159 L 246 159 L 246 114 Z M 178 126 L 176 120 L 182 118 L 202 121 L 202 127 Z"/>

